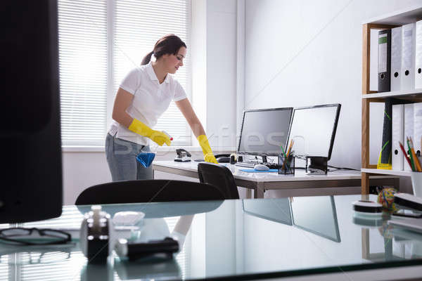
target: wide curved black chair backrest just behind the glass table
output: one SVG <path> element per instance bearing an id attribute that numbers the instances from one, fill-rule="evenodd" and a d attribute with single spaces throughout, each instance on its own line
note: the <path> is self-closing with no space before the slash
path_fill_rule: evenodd
<path id="1" fill-rule="evenodd" d="M 215 186 L 191 181 L 115 181 L 87 188 L 75 205 L 202 200 L 224 200 L 224 195 Z"/>

